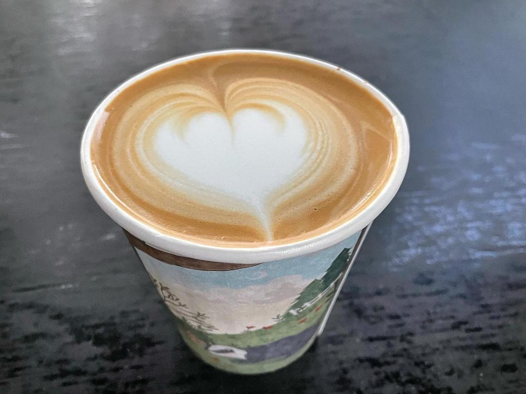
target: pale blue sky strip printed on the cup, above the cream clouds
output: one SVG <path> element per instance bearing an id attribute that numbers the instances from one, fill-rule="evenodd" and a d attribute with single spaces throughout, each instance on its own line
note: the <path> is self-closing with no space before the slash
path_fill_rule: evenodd
<path id="1" fill-rule="evenodd" d="M 272 279 L 287 275 L 301 275 L 305 279 L 314 279 L 323 275 L 343 248 L 354 247 L 359 235 L 360 233 L 354 234 L 334 246 L 307 256 L 262 263 L 235 271 L 198 271 L 161 262 L 155 265 L 158 274 L 165 281 L 186 287 L 242 288 L 251 285 L 263 285 Z"/>

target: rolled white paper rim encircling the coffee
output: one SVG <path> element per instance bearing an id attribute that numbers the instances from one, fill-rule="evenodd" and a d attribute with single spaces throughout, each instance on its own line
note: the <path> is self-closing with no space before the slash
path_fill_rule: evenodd
<path id="1" fill-rule="evenodd" d="M 370 92 L 390 111 L 393 118 L 393 124 L 395 125 L 397 137 L 397 155 L 395 163 L 393 165 L 390 177 L 383 186 L 382 190 L 358 215 L 351 217 L 346 222 L 328 230 L 325 233 L 321 233 L 301 241 L 269 246 L 224 247 L 198 243 L 179 238 L 175 235 L 161 233 L 154 227 L 151 227 L 146 223 L 139 221 L 134 216 L 128 214 L 106 194 L 102 185 L 99 183 L 98 178 L 96 177 L 95 169 L 92 165 L 90 145 L 93 134 L 97 128 L 97 123 L 101 119 L 104 109 L 107 107 L 108 103 L 112 101 L 120 91 L 129 85 L 160 69 L 200 57 L 236 53 L 270 54 L 284 58 L 302 60 L 306 63 L 315 64 L 327 69 L 338 70 L 347 78 L 356 82 L 362 86 L 362 88 Z M 305 55 L 271 49 L 211 50 L 178 57 L 148 68 L 134 77 L 127 79 L 125 82 L 123 82 L 123 84 L 119 85 L 116 89 L 110 92 L 110 94 L 108 94 L 106 98 L 102 100 L 102 102 L 100 102 L 87 122 L 86 128 L 84 129 L 82 142 L 80 144 L 80 164 L 82 167 L 84 180 L 90 193 L 93 195 L 93 198 L 98 203 L 100 208 L 102 208 L 102 210 L 106 212 L 106 214 L 110 216 L 117 224 L 123 227 L 123 229 L 160 251 L 196 258 L 199 260 L 236 264 L 265 263 L 318 252 L 345 240 L 352 234 L 361 231 L 364 227 L 376 219 L 376 217 L 393 199 L 400 188 L 404 175 L 406 174 L 408 162 L 409 131 L 407 128 L 406 119 L 400 110 L 395 106 L 395 104 L 385 94 L 383 94 L 383 92 L 353 72 L 331 64 L 325 60 L 319 60 Z"/>

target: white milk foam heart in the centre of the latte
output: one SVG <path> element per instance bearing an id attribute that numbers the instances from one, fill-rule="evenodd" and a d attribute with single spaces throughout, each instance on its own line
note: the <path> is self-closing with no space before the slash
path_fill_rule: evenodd
<path id="1" fill-rule="evenodd" d="M 267 232 L 267 196 L 301 169 L 307 142 L 298 113 L 280 103 L 271 106 L 282 122 L 257 108 L 238 110 L 231 122 L 207 112 L 190 119 L 184 130 L 166 121 L 154 137 L 154 149 L 165 163 L 190 181 L 247 203 Z"/>

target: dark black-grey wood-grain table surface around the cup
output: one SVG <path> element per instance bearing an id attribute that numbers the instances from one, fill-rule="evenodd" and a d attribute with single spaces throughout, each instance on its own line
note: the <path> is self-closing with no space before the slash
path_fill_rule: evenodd
<path id="1" fill-rule="evenodd" d="M 96 104 L 183 54 L 327 59 L 406 115 L 406 180 L 324 335 L 240 377 L 197 360 L 79 141 Z M 526 392 L 526 3 L 0 1 L 0 392 Z"/>

